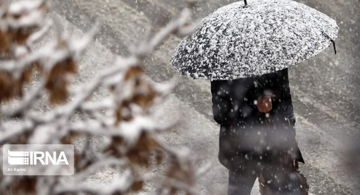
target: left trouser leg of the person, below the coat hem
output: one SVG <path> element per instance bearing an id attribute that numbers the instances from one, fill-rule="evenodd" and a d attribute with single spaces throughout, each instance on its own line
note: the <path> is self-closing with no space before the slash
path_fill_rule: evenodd
<path id="1" fill-rule="evenodd" d="M 249 195 L 256 178 L 256 174 L 240 176 L 240 174 L 229 170 L 228 195 Z"/>

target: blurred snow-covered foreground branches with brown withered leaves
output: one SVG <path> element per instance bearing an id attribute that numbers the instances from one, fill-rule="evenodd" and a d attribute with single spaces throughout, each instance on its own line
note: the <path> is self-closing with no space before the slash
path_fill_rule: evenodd
<path id="1" fill-rule="evenodd" d="M 192 1 L 193 2 L 193 1 Z M 99 25 L 80 40 L 58 36 L 56 41 L 35 49 L 51 28 L 45 22 L 49 5 L 46 0 L 22 1 L 6 5 L 0 3 L 0 103 L 18 100 L 13 109 L 1 109 L 0 143 L 3 144 L 74 144 L 81 136 L 106 136 L 100 154 L 93 151 L 89 140 L 75 152 L 73 176 L 0 176 L 1 194 L 129 194 L 143 189 L 149 178 L 143 175 L 153 163 L 160 165 L 164 155 L 170 157 L 167 173 L 163 176 L 160 194 L 185 191 L 194 194 L 192 185 L 199 175 L 194 171 L 197 159 L 189 152 L 177 151 L 163 144 L 159 132 L 169 126 L 159 124 L 149 112 L 149 106 L 163 98 L 173 86 L 157 86 L 144 76 L 144 58 L 171 33 L 190 32 L 190 12 L 184 10 L 179 19 L 169 23 L 138 46 L 131 47 L 132 55 L 118 57 L 91 82 L 69 92 L 77 62 Z M 35 89 L 26 93 L 24 86 L 32 85 L 34 75 L 40 77 Z M 89 98 L 99 87 L 108 88 L 112 97 L 100 102 Z M 35 115 L 33 103 L 48 94 L 50 112 Z M 69 97 L 71 96 L 71 101 Z M 74 114 L 88 117 L 72 121 Z M 6 120 L 18 125 L 8 128 Z M 46 135 L 40 133 L 47 129 Z M 116 167 L 120 176 L 106 189 L 90 186 L 85 178 L 103 167 Z M 151 177 L 150 177 L 151 179 Z"/>

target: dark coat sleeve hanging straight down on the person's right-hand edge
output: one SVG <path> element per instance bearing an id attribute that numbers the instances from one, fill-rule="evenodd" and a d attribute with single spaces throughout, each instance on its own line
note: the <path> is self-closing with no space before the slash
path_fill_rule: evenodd
<path id="1" fill-rule="evenodd" d="M 285 110 L 286 110 L 286 114 L 289 118 L 289 121 L 294 125 L 296 120 L 295 120 L 295 116 L 294 116 L 294 108 L 292 105 L 292 100 L 291 100 L 291 93 L 290 93 L 290 85 L 289 85 L 289 76 L 288 76 L 288 69 L 284 69 L 284 74 L 283 74 L 283 99 L 284 99 L 284 106 L 285 106 Z M 295 130 L 293 130 L 293 133 L 295 135 Z"/>

